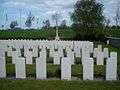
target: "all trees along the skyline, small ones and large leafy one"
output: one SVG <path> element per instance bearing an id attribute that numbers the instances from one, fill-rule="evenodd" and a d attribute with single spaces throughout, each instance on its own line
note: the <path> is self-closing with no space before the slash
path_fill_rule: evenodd
<path id="1" fill-rule="evenodd" d="M 74 10 L 71 13 L 72 25 L 70 26 L 72 30 L 76 31 L 77 39 L 82 40 L 104 40 L 105 34 L 104 29 L 120 28 L 120 2 L 118 2 L 116 15 L 113 18 L 115 21 L 114 26 L 110 26 L 110 19 L 105 18 L 103 15 L 104 5 L 96 0 L 78 0 L 74 5 Z M 52 19 L 55 21 L 55 27 L 52 27 L 50 20 L 43 21 L 44 29 L 49 28 L 63 28 L 66 29 L 66 20 L 63 20 L 60 25 L 58 25 L 59 14 L 52 15 Z M 29 29 L 32 26 L 35 17 L 29 12 L 29 15 L 25 21 L 26 27 Z M 11 29 L 18 26 L 17 21 L 12 21 L 10 24 Z"/>

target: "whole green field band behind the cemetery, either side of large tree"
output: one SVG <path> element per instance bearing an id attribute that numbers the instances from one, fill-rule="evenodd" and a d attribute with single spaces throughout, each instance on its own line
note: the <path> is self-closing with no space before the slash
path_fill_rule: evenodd
<path id="1" fill-rule="evenodd" d="M 120 30 L 103 30 L 107 37 L 120 37 Z M 59 30 L 61 39 L 75 39 L 76 33 L 71 29 Z M 55 30 L 0 30 L 0 39 L 54 39 Z"/>

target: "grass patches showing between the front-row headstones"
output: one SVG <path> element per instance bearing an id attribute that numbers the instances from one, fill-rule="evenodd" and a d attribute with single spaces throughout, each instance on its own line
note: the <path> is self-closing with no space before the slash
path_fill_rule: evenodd
<path id="1" fill-rule="evenodd" d="M 7 64 L 7 77 L 15 77 L 15 66 L 12 64 Z M 33 65 L 26 65 L 26 74 L 27 77 L 33 77 L 35 78 L 36 70 L 35 70 L 35 64 Z M 47 77 L 57 77 L 60 79 L 60 65 L 53 65 L 48 64 L 47 65 Z M 119 71 L 120 73 L 120 71 Z M 83 68 L 81 64 L 72 65 L 72 76 L 78 77 L 82 79 L 83 75 Z M 94 66 L 94 75 L 96 77 L 105 77 L 105 66 Z"/>

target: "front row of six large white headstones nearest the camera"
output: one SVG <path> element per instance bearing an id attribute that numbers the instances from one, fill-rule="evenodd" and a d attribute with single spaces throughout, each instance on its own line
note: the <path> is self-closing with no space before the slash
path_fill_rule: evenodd
<path id="1" fill-rule="evenodd" d="M 25 58 L 14 56 L 16 78 L 26 78 Z M 0 58 L 0 77 L 6 77 L 5 58 Z M 71 80 L 71 65 L 70 57 L 64 57 L 61 60 L 61 79 Z M 41 56 L 36 58 L 36 78 L 46 79 L 46 52 L 42 52 Z M 83 80 L 94 79 L 94 62 L 93 58 L 85 57 L 83 64 Z M 106 64 L 106 80 L 117 80 L 117 53 L 111 52 Z"/>

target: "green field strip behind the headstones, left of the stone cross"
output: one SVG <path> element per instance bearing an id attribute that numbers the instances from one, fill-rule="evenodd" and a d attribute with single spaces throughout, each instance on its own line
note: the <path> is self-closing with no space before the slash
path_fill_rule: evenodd
<path id="1" fill-rule="evenodd" d="M 54 30 L 3 30 L 0 31 L 0 39 L 46 39 L 54 37 Z"/>

